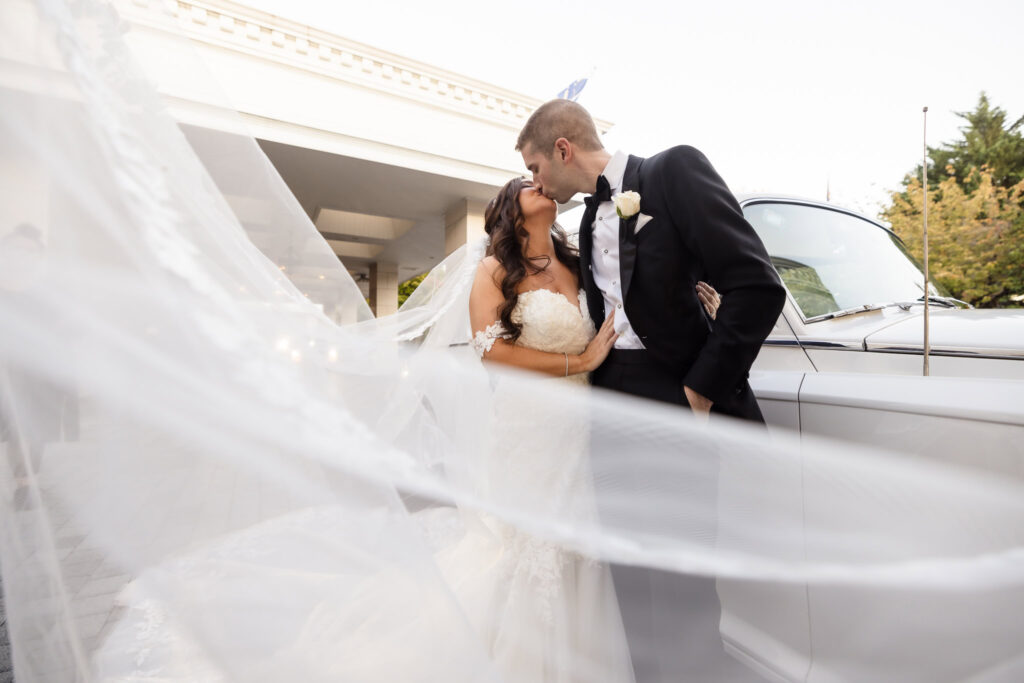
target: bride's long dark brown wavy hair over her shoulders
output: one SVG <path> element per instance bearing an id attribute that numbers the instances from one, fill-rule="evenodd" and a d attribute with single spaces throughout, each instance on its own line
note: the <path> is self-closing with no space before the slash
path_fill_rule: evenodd
<path id="1" fill-rule="evenodd" d="M 526 258 L 529 232 L 523 227 L 525 217 L 519 205 L 519 193 L 523 187 L 532 187 L 526 178 L 512 178 L 490 200 L 483 213 L 483 229 L 490 236 L 487 256 L 498 259 L 505 276 L 501 282 L 502 304 L 499 317 L 509 334 L 509 341 L 515 341 L 522 334 L 522 326 L 512 322 L 512 311 L 519 301 L 519 283 L 526 274 L 536 274 L 551 265 L 548 256 Z M 569 244 L 565 230 L 558 223 L 551 226 L 551 240 L 555 245 L 555 258 L 565 264 L 580 281 L 580 252 Z M 543 262 L 543 265 L 541 264 Z"/>

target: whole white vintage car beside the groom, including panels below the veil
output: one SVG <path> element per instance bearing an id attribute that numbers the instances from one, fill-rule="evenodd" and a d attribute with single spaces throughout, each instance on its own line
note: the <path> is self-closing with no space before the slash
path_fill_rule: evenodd
<path id="1" fill-rule="evenodd" d="M 924 377 L 924 278 L 891 230 L 808 200 L 740 204 L 788 292 L 751 373 L 770 428 L 1024 478 L 1024 310 L 970 309 L 931 288 Z M 805 500 L 799 482 L 782 494 L 808 514 L 829 504 Z M 900 661 L 885 663 L 902 668 L 904 681 L 965 680 L 1024 652 L 1024 628 L 989 626 L 993 614 L 1024 607 L 1024 595 L 1015 604 L 1005 595 L 965 601 L 958 624 L 987 643 L 965 652 L 951 647 L 945 614 L 927 592 L 887 600 L 842 587 L 728 581 L 718 591 L 726 649 L 770 680 L 838 680 L 830 664 L 851 656 L 876 680 L 871 652 L 892 652 L 872 645 L 877 624 L 912 625 L 919 636 Z"/>

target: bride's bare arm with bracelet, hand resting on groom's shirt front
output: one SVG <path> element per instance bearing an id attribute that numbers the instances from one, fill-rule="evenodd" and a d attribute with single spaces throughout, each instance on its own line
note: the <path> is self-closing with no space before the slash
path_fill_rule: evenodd
<path id="1" fill-rule="evenodd" d="M 473 328 L 473 336 L 483 335 L 493 338 L 494 329 L 487 328 L 496 323 L 500 326 L 500 313 L 505 297 L 497 284 L 495 271 L 497 263 L 488 258 L 480 262 L 476 269 L 476 279 L 473 281 L 473 289 L 469 294 L 469 319 Z M 489 348 L 483 350 L 485 360 L 501 362 L 506 366 L 531 370 L 537 373 L 544 373 L 552 377 L 563 377 L 566 374 L 575 375 L 595 370 L 615 343 L 618 335 L 614 333 L 612 327 L 612 316 L 601 326 L 597 335 L 590 342 L 581 354 L 548 353 L 525 346 L 516 346 L 505 339 L 494 338 Z M 568 372 L 566 373 L 566 361 Z"/>

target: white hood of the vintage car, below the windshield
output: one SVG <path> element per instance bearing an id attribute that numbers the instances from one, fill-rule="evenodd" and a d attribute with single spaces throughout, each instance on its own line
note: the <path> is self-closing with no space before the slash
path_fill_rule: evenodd
<path id="1" fill-rule="evenodd" d="M 935 353 L 1004 356 L 1024 359 L 1024 309 L 949 309 L 929 311 L 929 341 Z M 868 351 L 924 349 L 924 311 L 864 337 Z"/>

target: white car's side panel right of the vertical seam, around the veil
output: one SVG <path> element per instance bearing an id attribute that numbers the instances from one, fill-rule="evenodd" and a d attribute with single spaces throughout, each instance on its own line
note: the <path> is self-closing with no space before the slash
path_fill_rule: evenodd
<path id="1" fill-rule="evenodd" d="M 805 379 L 800 409 L 804 434 L 876 446 L 893 460 L 894 468 L 903 460 L 923 458 L 1024 479 L 1024 382 L 1018 380 L 820 373 Z M 841 515 L 835 496 L 805 490 L 803 499 L 808 519 Z M 893 523 L 872 517 L 869 505 L 857 509 L 850 516 L 851 533 Z M 955 529 L 955 524 L 944 527 L 947 542 Z M 963 540 L 965 547 L 976 542 L 974 537 Z M 813 547 L 807 551 L 814 556 Z M 891 592 L 808 587 L 813 656 L 807 680 L 837 680 L 837 668 L 851 658 L 858 661 L 863 680 L 881 680 L 871 667 L 872 655 L 883 649 L 889 658 L 880 663 L 880 670 L 902 670 L 906 675 L 901 680 L 921 682 L 967 680 L 993 661 L 1020 656 L 1020 631 L 1006 629 L 1000 616 L 1024 611 L 1024 589 L 934 598 L 928 590 L 906 587 Z M 956 613 L 957 634 L 948 632 L 950 610 Z M 894 650 L 890 640 L 900 633 L 906 634 L 903 646 Z M 950 648 L 959 637 L 985 645 L 970 651 Z"/>

